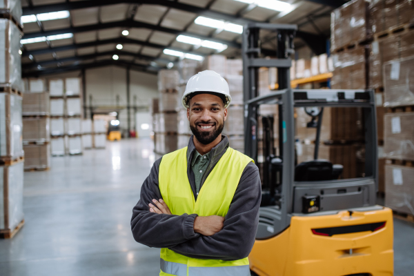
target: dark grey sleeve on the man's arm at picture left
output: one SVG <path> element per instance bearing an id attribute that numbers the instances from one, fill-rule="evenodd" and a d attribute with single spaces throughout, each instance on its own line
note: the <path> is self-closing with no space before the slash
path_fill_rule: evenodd
<path id="1" fill-rule="evenodd" d="M 132 209 L 131 229 L 135 241 L 150 247 L 167 248 L 198 237 L 194 232 L 193 215 L 166 215 L 150 213 L 152 199 L 161 199 L 158 172 L 161 158 L 155 161 L 150 175 L 141 186 L 141 195 Z"/>

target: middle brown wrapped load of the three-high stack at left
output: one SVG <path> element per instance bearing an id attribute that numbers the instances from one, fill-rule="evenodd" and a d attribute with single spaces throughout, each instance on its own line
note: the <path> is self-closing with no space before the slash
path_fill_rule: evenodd
<path id="1" fill-rule="evenodd" d="M 23 117 L 23 141 L 49 141 L 49 126 L 49 117 Z"/>

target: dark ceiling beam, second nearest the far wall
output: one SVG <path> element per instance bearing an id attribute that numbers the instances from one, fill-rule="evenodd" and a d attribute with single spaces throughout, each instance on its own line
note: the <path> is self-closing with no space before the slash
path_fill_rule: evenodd
<path id="1" fill-rule="evenodd" d="M 134 54 L 132 52 L 125 52 L 125 51 L 120 51 L 120 50 L 113 50 L 113 51 L 107 51 L 107 52 L 97 52 L 95 54 L 91 54 L 91 55 L 81 55 L 81 56 L 74 56 L 74 57 L 65 57 L 62 59 L 50 59 L 50 60 L 46 60 L 46 61 L 34 61 L 33 63 L 25 63 L 22 64 L 22 68 L 23 69 L 28 69 L 28 68 L 37 68 L 37 66 L 48 66 L 50 64 L 56 64 L 56 63 L 65 63 L 65 62 L 70 62 L 70 61 L 79 61 L 79 60 L 88 60 L 88 59 L 96 59 L 97 57 L 103 57 L 106 55 L 118 55 L 118 56 L 128 56 L 128 57 L 135 57 L 137 59 L 141 59 L 144 61 L 161 61 L 162 63 L 169 63 L 171 62 L 170 59 L 155 59 L 155 57 L 150 57 L 150 56 L 146 56 L 146 55 L 141 55 L 141 54 Z M 121 59 L 119 59 L 120 61 L 123 61 Z"/>

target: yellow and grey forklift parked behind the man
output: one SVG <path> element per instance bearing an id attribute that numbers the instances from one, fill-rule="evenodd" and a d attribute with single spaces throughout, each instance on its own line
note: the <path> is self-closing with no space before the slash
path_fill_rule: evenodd
<path id="1" fill-rule="evenodd" d="M 260 30 L 277 34 L 277 59 L 260 57 Z M 262 204 L 252 275 L 393 275 L 393 216 L 375 204 L 377 124 L 372 90 L 290 88 L 290 55 L 297 26 L 251 23 L 244 26 L 245 154 L 258 161 L 258 110 L 275 104 L 277 119 L 263 117 Z M 258 69 L 276 67 L 279 90 L 258 96 Z M 344 178 L 344 164 L 318 159 L 324 108 L 358 108 L 364 120 L 364 172 Z M 305 108 L 316 127 L 314 159 L 297 164 L 294 109 Z M 273 129 L 277 120 L 277 130 Z M 273 143 L 273 131 L 279 143 Z"/>

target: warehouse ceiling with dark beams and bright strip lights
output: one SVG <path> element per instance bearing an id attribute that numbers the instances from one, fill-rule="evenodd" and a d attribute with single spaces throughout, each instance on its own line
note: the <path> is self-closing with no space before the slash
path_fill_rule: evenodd
<path id="1" fill-rule="evenodd" d="M 239 57 L 242 26 L 293 23 L 295 47 L 326 50 L 330 15 L 346 1 L 329 0 L 22 0 L 24 77 L 117 65 L 145 72 L 179 59 L 220 53 Z M 275 33 L 261 34 L 275 55 Z"/>

